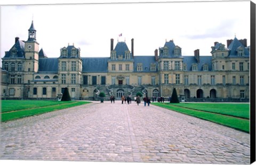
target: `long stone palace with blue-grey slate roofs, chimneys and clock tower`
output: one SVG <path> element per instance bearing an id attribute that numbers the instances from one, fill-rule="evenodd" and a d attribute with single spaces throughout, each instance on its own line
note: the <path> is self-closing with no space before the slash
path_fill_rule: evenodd
<path id="1" fill-rule="evenodd" d="M 110 39 L 109 57 L 82 57 L 68 45 L 59 57 L 48 58 L 39 50 L 33 21 L 28 40 L 15 38 L 5 52 L 1 68 L 1 96 L 21 99 L 56 99 L 68 87 L 73 100 L 95 100 L 107 96 L 170 97 L 173 88 L 186 100 L 249 101 L 250 46 L 246 39 L 215 42 L 212 56 L 184 56 L 173 40 L 155 50 L 155 55 L 135 56 L 125 42 Z"/>

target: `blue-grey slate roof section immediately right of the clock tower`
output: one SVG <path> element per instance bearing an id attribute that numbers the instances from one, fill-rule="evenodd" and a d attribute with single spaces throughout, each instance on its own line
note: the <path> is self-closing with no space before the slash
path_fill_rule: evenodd
<path id="1" fill-rule="evenodd" d="M 43 58 L 39 59 L 38 72 L 58 72 L 57 58 Z"/>

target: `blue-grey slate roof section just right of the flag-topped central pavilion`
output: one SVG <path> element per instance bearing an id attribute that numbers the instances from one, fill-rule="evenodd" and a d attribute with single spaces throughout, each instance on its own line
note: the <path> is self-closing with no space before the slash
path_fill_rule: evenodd
<path id="1" fill-rule="evenodd" d="M 138 63 L 142 63 L 142 71 L 137 71 Z M 150 71 L 150 64 L 156 64 L 156 71 L 158 70 L 158 65 L 155 56 L 134 56 L 134 72 L 155 72 Z"/>

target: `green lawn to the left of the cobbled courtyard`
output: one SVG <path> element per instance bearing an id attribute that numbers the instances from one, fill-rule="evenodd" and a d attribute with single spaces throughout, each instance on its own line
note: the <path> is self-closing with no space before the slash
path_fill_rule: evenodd
<path id="1" fill-rule="evenodd" d="M 35 116 L 38 114 L 83 105 L 90 102 L 58 102 L 58 101 L 2 101 L 1 121 Z M 12 104 L 12 105 L 10 105 Z"/>

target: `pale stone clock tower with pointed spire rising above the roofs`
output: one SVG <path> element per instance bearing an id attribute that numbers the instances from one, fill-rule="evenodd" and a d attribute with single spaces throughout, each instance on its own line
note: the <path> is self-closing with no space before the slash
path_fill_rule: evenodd
<path id="1" fill-rule="evenodd" d="M 25 58 L 26 65 L 25 71 L 37 72 L 38 71 L 38 52 L 39 44 L 36 42 L 36 29 L 32 21 L 28 29 L 28 40 L 25 42 Z"/>

